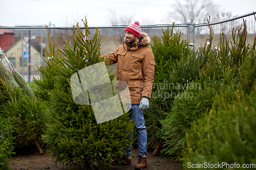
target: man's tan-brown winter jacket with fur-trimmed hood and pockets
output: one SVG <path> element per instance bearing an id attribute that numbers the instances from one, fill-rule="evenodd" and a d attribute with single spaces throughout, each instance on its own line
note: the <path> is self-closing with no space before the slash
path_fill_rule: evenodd
<path id="1" fill-rule="evenodd" d="M 132 104 L 140 104 L 142 96 L 151 98 L 155 75 L 155 58 L 148 48 L 150 36 L 141 33 L 141 42 L 132 47 L 127 42 L 119 45 L 109 57 L 109 63 L 117 63 L 117 81 L 128 84 Z"/>

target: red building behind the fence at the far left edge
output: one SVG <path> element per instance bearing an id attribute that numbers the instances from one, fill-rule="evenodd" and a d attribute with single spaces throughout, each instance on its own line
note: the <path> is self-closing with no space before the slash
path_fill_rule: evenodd
<path id="1" fill-rule="evenodd" d="M 0 46 L 2 50 L 7 51 L 13 44 L 13 31 L 8 29 L 0 29 Z"/>

